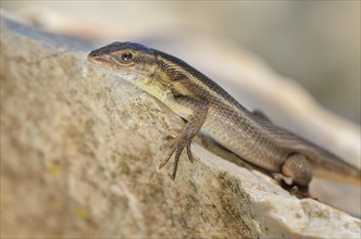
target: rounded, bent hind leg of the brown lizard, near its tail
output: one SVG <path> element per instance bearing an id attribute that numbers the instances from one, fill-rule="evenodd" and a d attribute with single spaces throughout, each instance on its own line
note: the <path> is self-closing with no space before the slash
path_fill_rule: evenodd
<path id="1" fill-rule="evenodd" d="M 299 153 L 291 154 L 285 160 L 281 173 L 299 186 L 308 186 L 312 179 L 311 165 L 306 156 Z"/>

